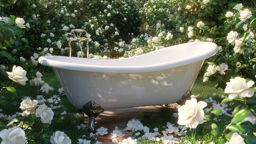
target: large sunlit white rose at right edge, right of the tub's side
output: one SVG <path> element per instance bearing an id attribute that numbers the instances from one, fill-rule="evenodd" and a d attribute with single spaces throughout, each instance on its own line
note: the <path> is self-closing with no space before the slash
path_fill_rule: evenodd
<path id="1" fill-rule="evenodd" d="M 234 79 L 230 79 L 230 82 L 226 83 L 224 93 L 230 93 L 230 100 L 238 95 L 240 97 L 252 97 L 254 95 L 254 91 L 249 90 L 252 85 L 254 85 L 254 81 L 252 80 L 246 82 L 244 78 L 235 77 Z"/>

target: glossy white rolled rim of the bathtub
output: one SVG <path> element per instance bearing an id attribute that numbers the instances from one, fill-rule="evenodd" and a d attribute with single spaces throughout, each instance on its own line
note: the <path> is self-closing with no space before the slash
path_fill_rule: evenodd
<path id="1" fill-rule="evenodd" d="M 164 69 L 169 69 L 169 68 L 175 68 L 177 66 L 182 66 L 186 64 L 191 64 L 194 62 L 198 62 L 201 60 L 205 60 L 207 58 L 212 57 L 218 52 L 218 46 L 215 43 L 212 42 L 193 42 L 194 44 L 199 43 L 199 44 L 205 44 L 207 45 L 208 43 L 208 53 L 205 53 L 204 55 L 199 55 L 199 57 L 189 57 L 189 58 L 182 58 L 178 60 L 173 60 L 169 62 L 164 62 L 164 63 L 158 63 L 158 64 L 149 64 L 149 65 L 137 65 L 137 66 L 111 66 L 111 65 L 93 65 L 93 64 L 78 64 L 78 63 L 70 63 L 70 62 L 62 62 L 59 60 L 54 60 L 53 58 L 56 57 L 66 57 L 66 56 L 58 56 L 58 55 L 46 55 L 46 56 L 41 56 L 38 58 L 38 63 L 42 65 L 47 65 L 55 68 L 61 68 L 61 69 L 69 69 L 69 70 L 79 70 L 79 71 L 92 71 L 92 72 L 103 72 L 103 73 L 144 73 L 144 72 L 151 72 L 151 71 L 158 71 L 158 70 L 164 70 Z M 189 45 L 190 43 L 184 43 L 184 44 L 179 44 L 180 46 L 182 45 Z M 178 45 L 175 45 L 176 47 Z M 170 46 L 173 47 L 173 46 Z M 166 47 L 166 48 L 170 48 Z M 159 49 L 158 51 L 164 50 Z M 150 53 L 145 53 L 143 55 L 147 54 L 152 54 L 154 52 Z M 135 56 L 135 57 L 139 57 Z M 198 56 L 198 55 L 197 55 Z M 70 59 L 81 59 L 81 60 L 86 60 L 85 58 L 76 58 L 76 57 L 66 57 Z M 102 64 L 104 64 L 104 61 L 128 61 L 129 59 L 132 59 L 134 57 L 130 58 L 124 58 L 124 59 L 93 59 L 93 60 L 98 60 L 102 61 Z M 89 61 L 92 61 L 92 59 L 87 59 Z M 61 62 L 61 63 L 60 63 Z"/>

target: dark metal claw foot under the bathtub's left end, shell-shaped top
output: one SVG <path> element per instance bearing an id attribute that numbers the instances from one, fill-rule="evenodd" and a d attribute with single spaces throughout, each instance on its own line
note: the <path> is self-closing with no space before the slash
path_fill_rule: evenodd
<path id="1" fill-rule="evenodd" d="M 101 108 L 100 105 L 97 103 L 90 101 L 86 103 L 86 105 L 83 106 L 82 112 L 87 114 L 89 117 L 89 125 L 88 125 L 88 132 L 89 133 L 95 133 L 95 118 L 104 111 L 104 109 Z"/>

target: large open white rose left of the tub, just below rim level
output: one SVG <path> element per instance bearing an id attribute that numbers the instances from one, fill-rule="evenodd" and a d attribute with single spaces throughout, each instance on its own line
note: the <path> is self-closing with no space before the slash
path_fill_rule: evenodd
<path id="1" fill-rule="evenodd" d="M 12 67 L 12 72 L 6 71 L 8 74 L 8 77 L 13 80 L 14 82 L 17 82 L 21 85 L 26 85 L 26 81 L 28 80 L 26 77 L 27 71 L 23 70 L 22 67 L 14 65 Z"/>

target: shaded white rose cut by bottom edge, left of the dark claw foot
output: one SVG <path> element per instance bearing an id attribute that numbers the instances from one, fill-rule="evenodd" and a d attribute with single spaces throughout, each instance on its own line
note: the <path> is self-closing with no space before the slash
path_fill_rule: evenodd
<path id="1" fill-rule="evenodd" d="M 64 133 L 57 130 L 50 139 L 52 144 L 71 144 L 71 139 Z"/>

